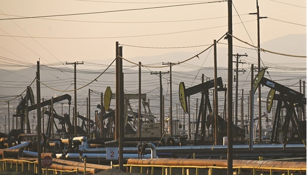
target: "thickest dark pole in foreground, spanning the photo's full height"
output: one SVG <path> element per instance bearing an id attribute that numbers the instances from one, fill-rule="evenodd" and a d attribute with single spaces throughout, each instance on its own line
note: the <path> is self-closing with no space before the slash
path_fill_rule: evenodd
<path id="1" fill-rule="evenodd" d="M 228 87 L 227 87 L 227 175 L 233 175 L 233 136 L 232 136 L 232 0 L 228 6 Z"/>

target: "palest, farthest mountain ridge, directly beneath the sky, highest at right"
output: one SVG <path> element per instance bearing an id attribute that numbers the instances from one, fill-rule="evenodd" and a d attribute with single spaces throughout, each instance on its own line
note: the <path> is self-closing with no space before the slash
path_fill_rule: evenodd
<path id="1" fill-rule="evenodd" d="M 223 41 L 225 42 L 225 41 Z M 257 45 L 257 43 L 254 43 L 254 45 Z M 255 49 L 251 49 L 250 46 L 246 45 L 247 48 L 237 47 L 236 44 L 234 44 L 233 47 L 233 54 L 247 54 L 248 59 L 245 57 L 242 58 L 242 60 L 247 60 L 247 62 L 254 62 L 254 64 L 257 64 L 257 52 Z M 298 34 L 298 35 L 286 35 L 283 37 L 279 37 L 264 43 L 261 43 L 261 48 L 265 50 L 269 50 L 276 53 L 281 54 L 288 54 L 288 55 L 297 55 L 297 56 L 306 56 L 307 55 L 307 45 L 306 45 L 306 34 Z M 204 47 L 204 49 L 207 47 Z M 210 49 L 209 49 L 210 50 Z M 203 66 L 203 67 L 213 67 L 213 49 L 211 51 L 206 51 L 203 54 L 201 54 L 198 58 L 194 58 L 192 60 L 189 60 L 188 62 L 182 64 L 183 66 L 177 66 L 173 67 L 173 70 L 178 71 L 191 71 L 192 69 L 196 69 L 195 66 Z M 184 60 L 187 60 L 203 50 L 195 51 L 195 52 L 172 52 L 168 54 L 158 54 L 155 56 L 142 56 L 142 57 L 133 57 L 130 55 L 124 55 L 124 58 L 128 59 L 129 61 L 138 64 L 139 62 L 142 62 L 143 65 L 153 65 L 156 63 L 160 63 L 160 65 L 156 66 L 162 66 L 162 62 L 171 62 L 171 63 L 178 63 Z M 123 53 L 125 52 L 125 48 L 123 48 Z M 227 55 L 228 55 L 228 48 L 227 45 L 224 44 L 217 44 L 217 66 L 218 67 L 225 67 L 227 68 Z M 251 59 L 254 58 L 254 59 Z M 306 65 L 306 58 L 295 58 L 295 57 L 287 57 L 282 56 L 278 54 L 271 54 L 268 52 L 261 52 L 261 60 L 265 66 L 270 67 L 272 64 L 287 64 L 287 63 L 301 63 Z M 102 63 L 100 60 L 86 60 L 87 62 L 91 63 Z M 109 64 L 112 60 L 103 60 L 103 64 Z M 124 65 L 132 65 L 126 61 L 123 61 Z M 261 66 L 263 66 L 261 64 Z M 195 65 L 193 68 L 191 65 Z M 255 65 L 256 66 L 256 65 Z M 247 65 L 244 65 L 244 67 L 248 67 Z M 84 67 L 83 67 L 84 68 Z M 87 68 L 85 68 L 87 69 Z M 93 69 L 93 68 L 90 68 Z M 95 69 L 95 68 L 94 68 Z M 136 68 L 137 69 L 137 68 Z M 135 70 L 136 70 L 135 69 Z M 160 70 L 168 70 L 161 68 Z M 160 70 L 153 70 L 153 71 L 160 71 Z"/>

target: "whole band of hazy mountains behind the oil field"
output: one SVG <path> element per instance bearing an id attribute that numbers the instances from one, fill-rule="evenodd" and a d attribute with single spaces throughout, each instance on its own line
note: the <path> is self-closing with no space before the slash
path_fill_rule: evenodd
<path id="1" fill-rule="evenodd" d="M 289 42 L 288 42 L 289 40 Z M 291 42 L 290 42 L 291 41 Z M 277 38 L 272 41 L 265 42 L 261 44 L 261 48 L 265 48 L 267 50 L 272 50 L 274 52 L 280 53 L 287 53 L 293 55 L 303 55 L 306 56 L 306 34 L 305 35 L 288 35 L 281 38 Z M 291 49 L 290 49 L 291 48 Z M 186 60 L 195 56 L 199 52 L 190 53 L 190 52 L 176 52 L 176 53 L 169 53 L 164 55 L 157 55 L 157 56 L 150 56 L 150 57 L 135 57 L 135 58 L 127 58 L 132 62 L 138 63 L 139 61 L 144 60 L 144 64 L 153 64 L 153 63 L 162 63 L 162 62 L 172 62 L 176 63 L 178 61 Z M 249 57 L 247 57 L 246 61 L 256 64 L 256 51 L 251 49 L 244 49 L 234 47 L 234 54 L 245 54 L 247 53 Z M 227 47 L 223 45 L 220 47 L 218 45 L 217 48 L 217 58 L 218 58 L 218 76 L 221 76 L 223 79 L 223 83 L 227 84 Z M 254 59 L 253 59 L 254 58 Z M 306 58 L 293 58 L 293 57 L 285 57 L 281 55 L 269 54 L 261 52 L 261 58 L 263 63 L 268 65 L 269 75 L 266 74 L 270 79 L 276 81 L 282 85 L 289 86 L 290 88 L 299 91 L 299 80 L 306 81 Z M 242 58 L 244 60 L 245 57 Z M 94 60 L 85 60 L 87 62 L 94 63 Z M 285 62 L 291 66 L 293 63 L 299 63 L 300 67 L 305 68 L 300 71 L 292 70 L 292 71 L 285 71 L 278 68 L 270 68 L 270 66 L 276 66 L 282 62 Z M 97 61 L 97 63 L 102 63 L 101 61 Z M 104 60 L 103 64 L 107 65 L 111 63 L 111 60 Z M 284 66 L 287 66 L 285 64 Z M 115 64 L 114 64 L 115 65 Z M 126 65 L 126 63 L 124 63 Z M 160 65 L 162 66 L 162 64 Z M 202 66 L 200 70 L 199 67 Z M 247 93 L 250 90 L 250 68 L 251 65 L 244 64 L 241 65 L 239 69 L 244 68 L 247 70 L 244 74 L 240 72 L 239 75 L 239 90 L 244 89 Z M 255 65 L 256 66 L 256 65 Z M 293 66 L 291 66 L 293 67 Z M 90 81 L 96 79 L 101 72 L 104 71 L 103 69 L 94 70 L 93 67 L 89 69 L 85 69 L 86 66 L 82 65 L 78 67 L 77 73 L 77 88 L 80 88 Z M 97 67 L 96 67 L 97 68 Z M 99 68 L 99 67 L 98 67 Z M 138 93 L 138 69 L 126 69 L 124 68 L 124 88 L 125 93 Z M 195 86 L 201 83 L 201 76 L 202 74 L 205 75 L 205 81 L 208 80 L 207 78 L 213 78 L 213 52 L 209 55 L 206 53 L 200 56 L 200 59 L 194 58 L 193 60 L 179 65 L 172 67 L 172 93 L 173 103 L 178 104 L 178 84 L 183 81 L 185 82 L 186 87 Z M 235 69 L 235 67 L 233 67 Z M 67 68 L 65 68 L 67 69 Z M 148 98 L 152 99 L 151 104 L 157 106 L 158 104 L 158 94 L 159 94 L 159 77 L 156 75 L 151 74 L 151 71 L 167 71 L 167 68 L 142 68 L 142 93 L 147 93 Z M 36 68 L 26 68 L 21 70 L 0 70 L 0 97 L 6 96 L 16 96 L 21 94 L 27 86 L 35 79 L 36 77 Z M 96 72 L 96 73 L 95 73 Z M 88 96 L 89 89 L 92 90 L 95 102 L 95 105 L 99 104 L 100 102 L 100 93 L 104 93 L 106 86 L 110 86 L 112 90 L 115 92 L 115 73 L 114 67 L 109 70 L 106 70 L 104 74 L 102 74 L 97 81 L 94 81 L 89 86 L 84 87 L 83 89 L 78 90 L 78 101 L 82 101 L 79 105 L 86 105 L 85 99 Z M 255 72 L 256 74 L 257 72 Z M 233 72 L 235 74 L 235 72 Z M 67 71 L 60 71 L 57 69 L 46 69 L 42 66 L 41 69 L 41 80 L 42 82 L 46 83 L 47 86 L 52 87 L 53 89 L 61 89 L 61 90 L 72 90 L 73 89 L 73 69 L 70 69 L 70 72 Z M 233 78 L 231 80 L 233 81 Z M 163 84 L 163 95 L 165 95 L 166 99 L 169 97 L 169 73 L 163 75 L 162 79 Z M 70 86 L 69 86 L 70 85 Z M 235 82 L 233 82 L 233 86 L 235 87 Z M 36 96 L 36 83 L 31 85 L 34 89 L 34 95 Z M 235 88 L 233 87 L 233 90 Z M 262 93 L 264 94 L 264 98 L 266 98 L 266 92 L 268 92 L 268 88 L 263 88 L 264 90 Z M 234 92 L 234 91 L 233 91 Z M 45 85 L 41 84 L 41 96 L 45 99 L 50 99 L 54 96 L 59 96 L 60 94 L 70 94 L 73 97 L 73 91 L 70 92 L 59 92 L 47 88 Z M 25 93 L 23 93 L 25 94 Z M 195 96 L 193 98 L 199 98 Z M 1 101 L 5 101 L 8 98 L 1 98 Z M 166 104 L 169 104 L 169 101 L 165 101 Z M 11 104 L 13 105 L 13 104 Z M 93 106 L 93 108 L 96 108 Z M 97 109 L 94 109 L 97 110 Z"/>

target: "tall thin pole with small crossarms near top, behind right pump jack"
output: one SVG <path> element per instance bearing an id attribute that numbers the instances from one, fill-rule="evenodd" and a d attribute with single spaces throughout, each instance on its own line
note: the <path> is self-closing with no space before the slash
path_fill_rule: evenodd
<path id="1" fill-rule="evenodd" d="M 259 20 L 267 17 L 259 16 L 258 0 L 256 0 L 256 13 L 249 13 L 250 15 L 257 15 L 257 54 L 258 54 L 258 72 L 260 71 L 260 23 Z M 259 143 L 261 142 L 261 86 L 258 86 L 258 117 L 259 117 Z"/>

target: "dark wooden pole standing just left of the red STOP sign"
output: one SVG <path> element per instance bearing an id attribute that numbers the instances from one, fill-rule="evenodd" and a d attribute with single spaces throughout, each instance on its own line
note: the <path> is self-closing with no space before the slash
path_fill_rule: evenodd
<path id="1" fill-rule="evenodd" d="M 42 154 L 41 154 L 41 84 L 40 84 L 40 62 L 37 62 L 36 71 L 36 99 L 37 99 L 37 156 L 38 174 L 42 174 Z M 17 119 L 16 119 L 17 121 Z M 17 122 L 16 122 L 17 123 Z M 43 124 L 44 126 L 44 124 Z"/>

